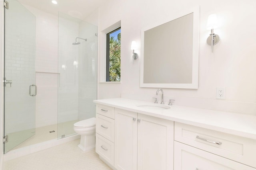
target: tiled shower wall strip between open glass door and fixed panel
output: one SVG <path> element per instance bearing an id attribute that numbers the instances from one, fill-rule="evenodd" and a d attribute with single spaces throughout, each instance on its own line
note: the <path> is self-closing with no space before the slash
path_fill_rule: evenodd
<path id="1" fill-rule="evenodd" d="M 57 123 L 58 16 L 25 6 L 36 16 L 36 127 Z"/>

